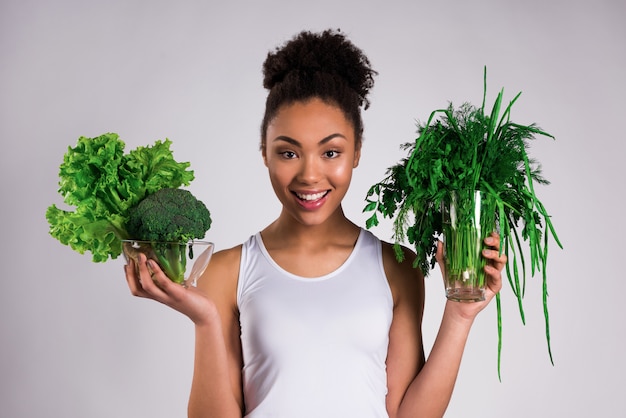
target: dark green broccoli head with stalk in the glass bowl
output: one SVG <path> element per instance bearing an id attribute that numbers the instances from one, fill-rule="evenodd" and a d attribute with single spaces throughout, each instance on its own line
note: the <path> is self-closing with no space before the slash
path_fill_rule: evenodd
<path id="1" fill-rule="evenodd" d="M 138 241 L 150 241 L 156 261 L 176 283 L 183 283 L 187 243 L 201 239 L 211 226 L 207 207 L 191 192 L 164 188 L 129 210 L 126 230 Z M 193 258 L 193 246 L 189 246 Z"/>

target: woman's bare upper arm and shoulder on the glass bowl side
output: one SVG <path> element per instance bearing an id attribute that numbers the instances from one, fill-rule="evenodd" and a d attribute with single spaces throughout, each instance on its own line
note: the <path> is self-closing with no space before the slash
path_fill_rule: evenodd
<path id="1" fill-rule="evenodd" d="M 206 271 L 198 281 L 198 288 L 206 293 L 217 308 L 228 356 L 231 387 L 243 407 L 241 378 L 243 360 L 237 308 L 240 259 L 241 245 L 213 254 Z"/>

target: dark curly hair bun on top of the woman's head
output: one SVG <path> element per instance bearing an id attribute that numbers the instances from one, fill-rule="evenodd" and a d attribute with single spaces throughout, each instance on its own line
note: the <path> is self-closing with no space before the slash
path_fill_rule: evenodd
<path id="1" fill-rule="evenodd" d="M 345 83 L 367 107 L 366 96 L 376 72 L 365 54 L 339 29 L 303 31 L 270 52 L 263 64 L 263 87 L 271 90 L 286 78 L 311 80 L 319 73 Z"/>

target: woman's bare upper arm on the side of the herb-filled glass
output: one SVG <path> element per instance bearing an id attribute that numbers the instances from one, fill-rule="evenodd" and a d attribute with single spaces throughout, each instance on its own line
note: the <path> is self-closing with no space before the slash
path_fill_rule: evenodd
<path id="1" fill-rule="evenodd" d="M 404 252 L 405 260 L 399 263 L 393 247 L 383 243 L 383 264 L 394 300 L 387 352 L 387 410 L 391 417 L 425 363 L 421 329 L 424 277 L 413 267 L 413 252 Z"/>

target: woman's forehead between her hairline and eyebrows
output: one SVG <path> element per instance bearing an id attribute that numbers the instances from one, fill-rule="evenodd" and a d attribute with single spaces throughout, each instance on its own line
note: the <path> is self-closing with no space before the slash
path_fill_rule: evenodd
<path id="1" fill-rule="evenodd" d="M 281 107 L 267 129 L 270 141 L 280 135 L 319 140 L 336 133 L 354 140 L 354 127 L 344 112 L 317 98 Z"/>

